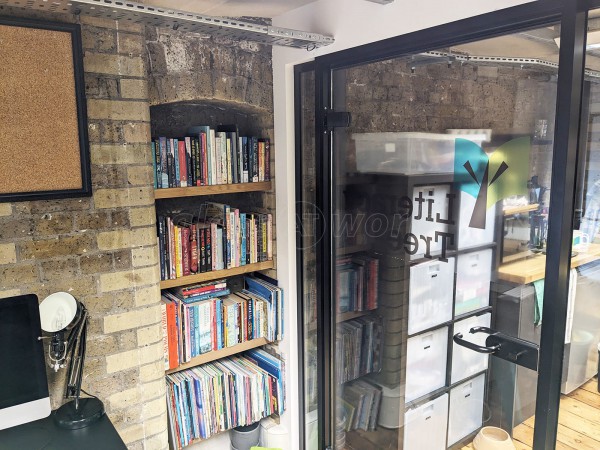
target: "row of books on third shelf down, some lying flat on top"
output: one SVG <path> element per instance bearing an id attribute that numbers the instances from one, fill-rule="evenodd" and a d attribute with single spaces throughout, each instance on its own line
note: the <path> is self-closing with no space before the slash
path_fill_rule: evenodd
<path id="1" fill-rule="evenodd" d="M 253 339 L 283 339 L 282 289 L 254 277 L 245 284 L 234 293 L 225 280 L 162 292 L 165 370 Z"/>

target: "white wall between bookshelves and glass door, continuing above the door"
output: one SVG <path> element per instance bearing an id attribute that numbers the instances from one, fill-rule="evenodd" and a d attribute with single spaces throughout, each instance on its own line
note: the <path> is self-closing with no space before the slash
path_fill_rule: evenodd
<path id="1" fill-rule="evenodd" d="M 293 66 L 314 57 L 388 37 L 453 22 L 530 0 L 396 0 L 379 5 L 366 0 L 319 0 L 273 19 L 273 25 L 333 36 L 335 43 L 312 52 L 273 47 L 275 102 L 275 178 L 277 190 L 277 275 L 286 293 L 287 412 L 290 447 L 299 448 Z"/>

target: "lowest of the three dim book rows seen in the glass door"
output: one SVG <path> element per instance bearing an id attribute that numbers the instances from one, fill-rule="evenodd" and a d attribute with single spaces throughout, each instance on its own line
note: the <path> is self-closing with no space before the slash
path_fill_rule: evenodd
<path id="1" fill-rule="evenodd" d="M 342 406 L 346 416 L 346 431 L 374 431 L 379 416 L 382 390 L 365 380 L 344 386 Z"/>

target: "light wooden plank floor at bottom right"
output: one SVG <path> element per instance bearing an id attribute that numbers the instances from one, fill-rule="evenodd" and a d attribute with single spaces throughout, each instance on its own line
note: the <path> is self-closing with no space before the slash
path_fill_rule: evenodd
<path id="1" fill-rule="evenodd" d="M 533 445 L 534 417 L 515 428 L 513 441 L 517 450 L 529 450 Z M 579 389 L 560 400 L 557 450 L 600 449 L 600 393 L 598 381 L 592 378 Z M 472 444 L 463 447 L 473 449 Z"/>

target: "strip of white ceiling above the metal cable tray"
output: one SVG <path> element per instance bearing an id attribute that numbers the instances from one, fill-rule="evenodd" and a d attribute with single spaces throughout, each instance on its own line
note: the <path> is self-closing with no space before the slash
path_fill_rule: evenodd
<path id="1" fill-rule="evenodd" d="M 150 6 L 208 16 L 273 18 L 315 0 L 138 0 Z"/>

